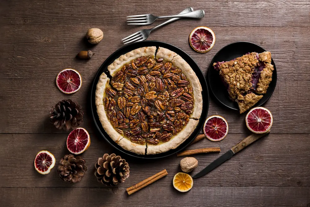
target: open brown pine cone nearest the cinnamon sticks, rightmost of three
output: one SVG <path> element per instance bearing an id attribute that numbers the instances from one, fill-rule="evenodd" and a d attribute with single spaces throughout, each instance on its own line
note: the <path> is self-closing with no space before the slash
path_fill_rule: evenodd
<path id="1" fill-rule="evenodd" d="M 98 158 L 95 164 L 95 176 L 98 182 L 115 186 L 118 182 L 124 182 L 129 177 L 129 166 L 121 156 L 104 154 Z"/>

